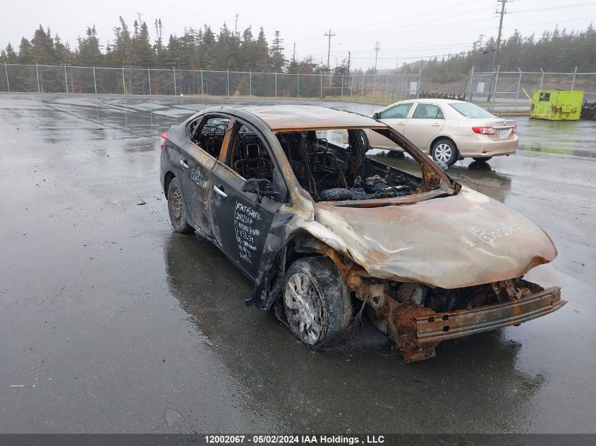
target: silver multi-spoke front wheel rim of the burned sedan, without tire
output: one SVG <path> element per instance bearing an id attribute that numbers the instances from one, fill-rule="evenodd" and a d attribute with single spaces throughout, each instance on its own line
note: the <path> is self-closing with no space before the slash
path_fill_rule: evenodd
<path id="1" fill-rule="evenodd" d="M 322 303 L 308 275 L 296 273 L 289 278 L 284 304 L 292 331 L 305 344 L 314 345 L 323 331 Z"/>

